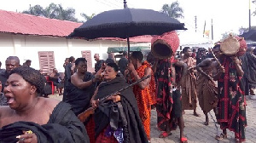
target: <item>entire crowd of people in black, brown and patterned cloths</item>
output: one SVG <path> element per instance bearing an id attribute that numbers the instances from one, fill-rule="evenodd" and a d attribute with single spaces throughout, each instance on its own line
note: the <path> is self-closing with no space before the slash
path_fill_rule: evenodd
<path id="1" fill-rule="evenodd" d="M 198 104 L 205 125 L 209 124 L 207 113 L 215 112 L 223 129 L 216 140 L 227 138 L 230 129 L 236 142 L 245 141 L 245 94 L 253 95 L 256 85 L 253 48 L 240 57 L 222 54 L 220 43 L 208 53 L 198 49 L 195 54 L 186 47 L 177 54 L 177 33 L 170 34 L 172 40 L 159 37 L 152 41 L 166 41 L 173 52 L 169 58 L 148 54 L 143 60 L 142 52 L 135 51 L 129 61 L 124 52 L 116 64 L 113 57 L 101 60 L 95 54 L 93 73 L 87 71 L 85 58 L 67 58 L 63 83 L 56 69 L 49 75 L 59 94 L 64 88 L 62 101 L 44 98 L 45 77 L 29 67 L 31 60 L 20 66 L 18 57 L 9 56 L 6 70 L 0 73 L 1 141 L 146 143 L 150 142 L 151 110 L 155 108 L 159 137 L 166 138 L 178 126 L 180 142 L 186 143 L 183 114 L 193 110 L 195 117 L 201 117 Z M 127 88 L 143 77 L 147 78 Z"/>

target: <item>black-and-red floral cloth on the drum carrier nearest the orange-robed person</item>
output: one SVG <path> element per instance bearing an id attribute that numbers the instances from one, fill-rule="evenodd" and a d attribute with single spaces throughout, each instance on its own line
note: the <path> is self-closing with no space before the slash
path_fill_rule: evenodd
<path id="1" fill-rule="evenodd" d="M 159 60 L 157 66 L 156 112 L 157 125 L 161 131 L 166 131 L 172 112 L 172 63 L 171 60 Z"/>

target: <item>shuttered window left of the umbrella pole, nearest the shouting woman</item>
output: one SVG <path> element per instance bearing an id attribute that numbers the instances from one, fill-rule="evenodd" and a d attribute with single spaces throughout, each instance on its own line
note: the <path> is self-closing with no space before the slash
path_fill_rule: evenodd
<path id="1" fill-rule="evenodd" d="M 53 51 L 38 52 L 39 66 L 44 73 L 49 74 L 55 68 L 55 54 Z"/>

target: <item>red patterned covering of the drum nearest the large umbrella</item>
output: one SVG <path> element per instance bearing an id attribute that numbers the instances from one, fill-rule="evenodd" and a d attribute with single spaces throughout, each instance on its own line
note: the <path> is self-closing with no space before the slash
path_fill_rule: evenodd
<path id="1" fill-rule="evenodd" d="M 171 46 L 173 53 L 176 53 L 179 47 L 179 38 L 176 31 L 168 31 L 161 36 L 153 37 L 151 40 L 151 45 L 153 45 L 153 43 L 159 39 L 164 40 L 166 43 L 168 43 Z"/>

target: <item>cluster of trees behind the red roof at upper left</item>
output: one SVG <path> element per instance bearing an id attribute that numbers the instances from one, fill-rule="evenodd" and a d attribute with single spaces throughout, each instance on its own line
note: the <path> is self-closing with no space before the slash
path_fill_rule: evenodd
<path id="1" fill-rule="evenodd" d="M 36 16 L 44 16 L 50 19 L 57 20 L 70 20 L 78 22 L 75 18 L 75 9 L 67 8 L 63 9 L 61 4 L 50 3 L 48 7 L 43 9 L 40 5 L 30 7 L 28 10 L 22 12 L 23 14 L 33 14 Z"/>

